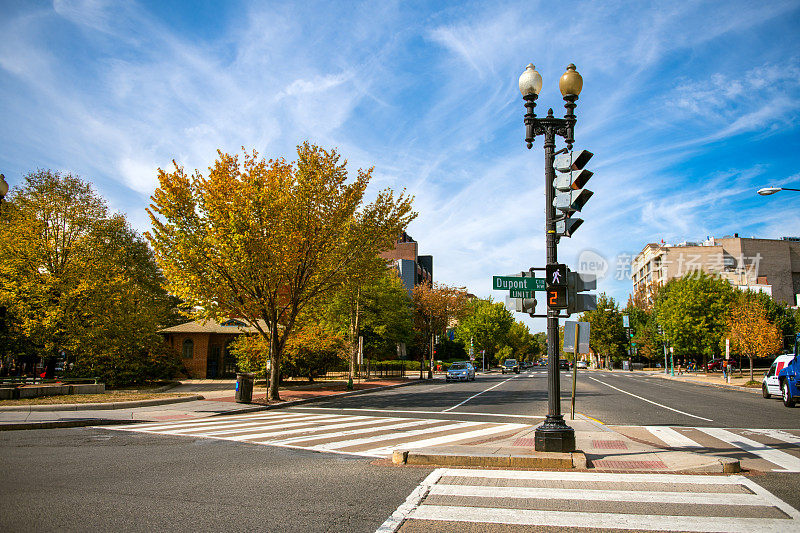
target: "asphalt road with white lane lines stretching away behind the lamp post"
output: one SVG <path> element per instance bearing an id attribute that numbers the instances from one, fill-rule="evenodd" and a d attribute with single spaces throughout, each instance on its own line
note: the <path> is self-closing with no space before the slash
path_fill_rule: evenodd
<path id="1" fill-rule="evenodd" d="M 571 372 L 561 372 L 565 414 L 571 387 Z M 547 414 L 547 375 L 544 369 L 479 374 L 474 382 L 441 381 L 313 406 L 374 410 L 384 416 L 407 416 L 410 411 L 422 417 L 536 423 Z M 760 392 L 665 380 L 641 372 L 579 370 L 576 411 L 609 425 L 800 428 L 800 408 L 786 408 L 779 399 L 762 398 Z"/>

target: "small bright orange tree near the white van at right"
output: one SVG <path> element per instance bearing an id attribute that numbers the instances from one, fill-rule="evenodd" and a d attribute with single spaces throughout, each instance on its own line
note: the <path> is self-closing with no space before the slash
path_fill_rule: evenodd
<path id="1" fill-rule="evenodd" d="M 731 350 L 750 360 L 750 381 L 753 381 L 753 359 L 769 357 L 783 347 L 781 331 L 769 321 L 764 303 L 746 293 L 734 296 L 725 334 Z"/>

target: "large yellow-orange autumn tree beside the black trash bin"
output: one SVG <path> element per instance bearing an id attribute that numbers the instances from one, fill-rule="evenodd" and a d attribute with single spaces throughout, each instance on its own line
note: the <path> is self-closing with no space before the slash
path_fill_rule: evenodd
<path id="1" fill-rule="evenodd" d="M 169 290 L 198 317 L 240 317 L 270 343 L 268 397 L 278 400 L 300 313 L 362 276 L 416 213 L 390 189 L 365 204 L 372 169 L 350 180 L 336 150 L 306 142 L 294 162 L 218 154 L 207 176 L 159 169 L 148 238 Z"/>

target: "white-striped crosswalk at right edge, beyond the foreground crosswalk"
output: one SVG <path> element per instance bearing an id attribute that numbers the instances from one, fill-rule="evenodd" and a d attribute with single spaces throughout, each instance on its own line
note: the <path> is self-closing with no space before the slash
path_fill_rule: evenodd
<path id="1" fill-rule="evenodd" d="M 613 426 L 661 448 L 739 459 L 746 470 L 800 472 L 800 429 Z"/>

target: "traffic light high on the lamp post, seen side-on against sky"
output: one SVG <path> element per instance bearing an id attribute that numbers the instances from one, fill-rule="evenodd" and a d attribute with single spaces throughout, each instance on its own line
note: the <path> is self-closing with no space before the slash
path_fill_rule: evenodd
<path id="1" fill-rule="evenodd" d="M 572 215 L 583 209 L 594 194 L 583 188 L 592 177 L 592 172 L 584 168 L 592 155 L 588 150 L 578 150 L 559 154 L 555 158 L 553 168 L 557 174 L 553 180 L 553 187 L 556 189 L 553 207 L 561 211 L 561 217 L 556 220 L 558 236 L 571 237 L 583 224 L 582 219 L 572 218 Z"/>

